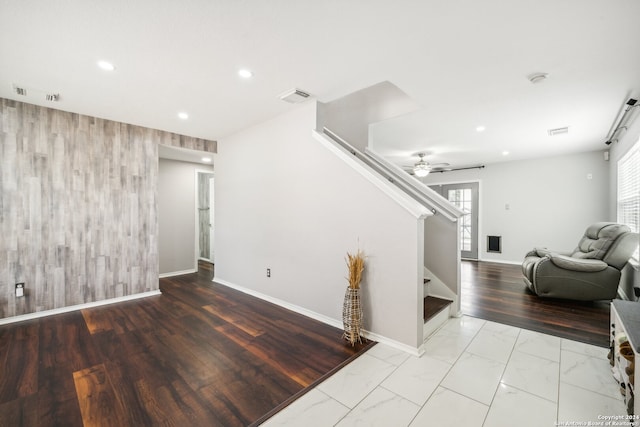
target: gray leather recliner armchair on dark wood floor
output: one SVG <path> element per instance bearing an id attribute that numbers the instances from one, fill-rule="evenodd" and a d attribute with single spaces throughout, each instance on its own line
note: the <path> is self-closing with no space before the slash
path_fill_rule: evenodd
<path id="1" fill-rule="evenodd" d="M 598 222 L 573 252 L 535 248 L 522 263 L 524 282 L 538 296 L 580 301 L 613 299 L 620 271 L 638 247 L 626 225 Z"/>

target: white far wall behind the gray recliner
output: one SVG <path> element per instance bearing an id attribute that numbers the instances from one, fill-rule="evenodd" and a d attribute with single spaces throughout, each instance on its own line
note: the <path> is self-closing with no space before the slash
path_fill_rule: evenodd
<path id="1" fill-rule="evenodd" d="M 602 152 L 589 152 L 432 174 L 424 182 L 479 181 L 479 258 L 521 263 L 535 246 L 572 250 L 589 224 L 611 219 L 608 167 Z M 502 236 L 502 253 L 486 251 L 487 235 Z"/>

